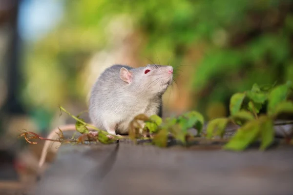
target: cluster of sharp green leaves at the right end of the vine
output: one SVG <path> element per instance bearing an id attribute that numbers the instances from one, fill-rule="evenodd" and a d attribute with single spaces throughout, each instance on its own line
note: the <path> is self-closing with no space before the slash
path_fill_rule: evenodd
<path id="1" fill-rule="evenodd" d="M 225 149 L 241 151 L 252 142 L 261 140 L 261 150 L 267 149 L 273 141 L 273 122 L 280 114 L 293 113 L 293 102 L 287 100 L 292 92 L 292 82 L 278 86 L 258 86 L 250 91 L 236 93 L 230 98 L 230 117 L 209 121 L 207 137 L 223 137 L 227 125 L 232 122 L 240 125 L 236 134 L 224 146 Z M 266 106 L 267 113 L 258 116 Z"/>

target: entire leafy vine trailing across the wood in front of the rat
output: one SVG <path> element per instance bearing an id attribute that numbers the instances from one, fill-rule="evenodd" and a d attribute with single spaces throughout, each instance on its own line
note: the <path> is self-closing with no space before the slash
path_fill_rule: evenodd
<path id="1" fill-rule="evenodd" d="M 239 128 L 236 134 L 227 141 L 224 149 L 242 151 L 245 150 L 252 142 L 260 140 L 260 150 L 267 149 L 274 139 L 274 121 L 281 114 L 293 114 L 293 101 L 288 100 L 288 96 L 292 93 L 292 82 L 285 84 L 258 86 L 254 84 L 251 90 L 235 93 L 230 98 L 230 116 L 215 118 L 208 122 L 207 139 L 214 137 L 223 138 L 229 123 L 238 124 Z M 73 116 L 62 106 L 60 110 L 65 112 L 76 120 L 76 130 L 82 134 L 77 140 L 67 140 L 63 137 L 62 130 L 59 139 L 52 140 L 38 136 L 33 132 L 22 132 L 19 137 L 24 137 L 27 142 L 36 144 L 30 139 L 39 138 L 48 141 L 59 141 L 62 143 L 84 141 L 100 141 L 109 144 L 116 142 L 125 137 L 110 135 L 100 130 L 80 118 L 80 115 Z M 265 114 L 260 114 L 262 109 L 266 109 Z M 169 138 L 180 141 L 186 145 L 189 140 L 195 139 L 188 130 L 195 128 L 197 137 L 202 136 L 205 119 L 202 114 L 196 111 L 184 113 L 178 117 L 168 117 L 162 119 L 157 115 L 147 117 L 144 114 L 134 117 L 129 124 L 129 137 L 136 141 L 137 139 L 149 139 L 152 144 L 159 147 L 167 147 Z M 144 125 L 143 125 L 144 124 Z M 91 134 L 88 127 L 96 130 L 96 134 Z M 28 135 L 32 135 L 29 137 Z M 287 137 L 290 143 L 291 137 Z"/>

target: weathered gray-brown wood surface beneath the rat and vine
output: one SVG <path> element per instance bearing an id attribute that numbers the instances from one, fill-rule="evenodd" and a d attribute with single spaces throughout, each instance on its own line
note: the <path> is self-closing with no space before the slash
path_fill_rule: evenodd
<path id="1" fill-rule="evenodd" d="M 63 145 L 35 195 L 292 195 L 293 147 Z"/>

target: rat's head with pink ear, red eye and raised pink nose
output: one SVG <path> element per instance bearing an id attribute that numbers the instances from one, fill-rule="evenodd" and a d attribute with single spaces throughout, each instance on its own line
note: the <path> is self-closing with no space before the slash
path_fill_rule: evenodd
<path id="1" fill-rule="evenodd" d="M 120 69 L 120 78 L 129 85 L 129 90 L 142 95 L 164 94 L 172 83 L 173 67 L 163 65 L 147 65 L 127 70 Z"/>

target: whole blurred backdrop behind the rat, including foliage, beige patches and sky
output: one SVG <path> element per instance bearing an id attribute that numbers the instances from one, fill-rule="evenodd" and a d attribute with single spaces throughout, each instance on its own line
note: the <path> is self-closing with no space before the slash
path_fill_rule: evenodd
<path id="1" fill-rule="evenodd" d="M 87 109 L 91 85 L 114 63 L 170 59 L 179 75 L 164 97 L 165 116 L 225 116 L 230 96 L 254 82 L 293 81 L 292 0 L 37 1 L 21 2 L 17 100 L 42 131 L 59 117 L 58 105 Z M 36 20 L 47 26 L 33 36 Z"/>

